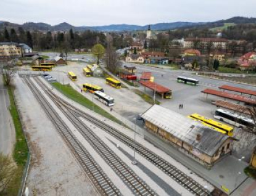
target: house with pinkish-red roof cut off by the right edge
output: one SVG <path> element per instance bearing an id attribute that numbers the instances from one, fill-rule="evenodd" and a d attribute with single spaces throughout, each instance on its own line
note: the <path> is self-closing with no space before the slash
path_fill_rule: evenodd
<path id="1" fill-rule="evenodd" d="M 248 52 L 237 60 L 241 70 L 252 70 L 256 67 L 256 52 Z"/>

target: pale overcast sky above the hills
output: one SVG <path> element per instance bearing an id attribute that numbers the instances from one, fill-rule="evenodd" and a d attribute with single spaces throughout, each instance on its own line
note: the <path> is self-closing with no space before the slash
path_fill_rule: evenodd
<path id="1" fill-rule="evenodd" d="M 75 26 L 213 22 L 256 17 L 255 0 L 0 0 L 0 20 Z"/>

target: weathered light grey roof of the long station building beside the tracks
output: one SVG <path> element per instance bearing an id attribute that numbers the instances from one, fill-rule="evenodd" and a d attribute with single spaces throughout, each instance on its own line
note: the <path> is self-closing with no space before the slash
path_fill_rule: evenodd
<path id="1" fill-rule="evenodd" d="M 160 105 L 153 105 L 141 117 L 210 157 L 213 157 L 223 142 L 229 138 Z"/>

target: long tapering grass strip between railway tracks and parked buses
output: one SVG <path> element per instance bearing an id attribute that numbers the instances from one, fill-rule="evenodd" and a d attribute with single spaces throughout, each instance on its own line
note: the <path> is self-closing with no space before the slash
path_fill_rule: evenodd
<path id="1" fill-rule="evenodd" d="M 117 118 L 115 118 L 114 116 L 110 115 L 110 113 L 106 112 L 101 107 L 97 106 L 96 104 L 93 104 L 93 102 L 91 100 L 89 100 L 86 97 L 84 97 L 83 95 L 81 95 L 79 92 L 77 92 L 75 89 L 73 89 L 68 84 L 63 85 L 60 83 L 52 83 L 52 86 L 54 86 L 54 88 L 56 88 L 58 91 L 60 91 L 62 94 L 64 94 L 69 99 L 72 99 L 75 102 L 77 102 L 78 104 L 85 106 L 89 110 L 94 109 L 94 112 L 99 113 L 100 115 L 104 116 L 105 118 L 109 118 L 109 120 L 115 121 L 116 123 L 124 126 L 122 121 L 120 121 Z"/>

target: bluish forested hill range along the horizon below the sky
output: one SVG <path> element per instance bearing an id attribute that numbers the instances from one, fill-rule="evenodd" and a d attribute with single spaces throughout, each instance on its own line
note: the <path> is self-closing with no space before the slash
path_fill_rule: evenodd
<path id="1" fill-rule="evenodd" d="M 216 28 L 224 27 L 226 23 L 244 24 L 244 23 L 256 23 L 256 18 L 246 18 L 246 17 L 233 17 L 226 20 L 218 20 L 216 22 L 171 22 L 171 23 L 156 23 L 151 25 L 152 30 L 175 30 L 175 29 L 186 29 L 186 28 Z M 41 30 L 41 31 L 68 31 L 72 28 L 75 31 L 84 31 L 84 30 L 97 30 L 97 31 L 136 31 L 136 30 L 147 30 L 148 25 L 139 26 L 139 25 L 104 25 L 104 26 L 81 26 L 75 27 L 66 22 L 60 23 L 59 25 L 49 25 L 47 23 L 34 23 L 27 22 L 23 25 L 10 22 L 1 22 L 0 21 L 0 30 L 4 28 L 17 29 L 22 27 L 24 30 Z"/>

